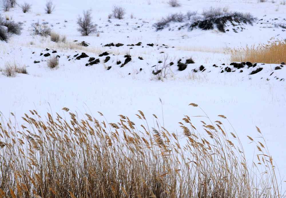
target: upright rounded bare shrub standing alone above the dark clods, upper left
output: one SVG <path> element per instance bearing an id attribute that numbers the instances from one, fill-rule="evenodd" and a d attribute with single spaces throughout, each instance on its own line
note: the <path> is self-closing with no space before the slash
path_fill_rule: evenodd
<path id="1" fill-rule="evenodd" d="M 83 36 L 88 36 L 90 33 L 95 33 L 97 31 L 97 25 L 92 22 L 92 16 L 89 10 L 83 11 L 83 17 L 78 16 L 76 23 L 78 24 L 78 31 Z"/>

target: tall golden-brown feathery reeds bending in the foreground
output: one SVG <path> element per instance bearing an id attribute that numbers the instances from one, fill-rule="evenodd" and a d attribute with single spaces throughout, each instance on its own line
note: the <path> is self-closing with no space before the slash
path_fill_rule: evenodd
<path id="1" fill-rule="evenodd" d="M 156 115 L 157 124 L 150 128 L 141 111 L 136 114 L 144 123 L 140 126 L 124 115 L 117 123 L 89 114 L 79 119 L 69 112 L 70 120 L 56 115 L 43 119 L 31 110 L 20 128 L 2 119 L 2 197 L 282 196 L 259 128 L 260 142 L 249 137 L 258 149 L 249 168 L 235 131 L 228 133 L 221 121 L 213 124 L 207 115 L 200 132 L 184 116 L 179 134 L 160 126 Z"/>

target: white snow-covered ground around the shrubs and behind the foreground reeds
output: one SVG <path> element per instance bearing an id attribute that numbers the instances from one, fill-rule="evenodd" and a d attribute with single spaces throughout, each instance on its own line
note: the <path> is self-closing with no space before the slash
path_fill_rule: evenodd
<path id="1" fill-rule="evenodd" d="M 23 1 L 19 0 L 21 3 Z M 116 122 L 117 115 L 123 114 L 140 123 L 135 114 L 142 110 L 153 123 L 152 114 L 162 120 L 160 98 L 165 128 L 180 133 L 178 122 L 184 115 L 204 115 L 198 108 L 188 106 L 194 102 L 214 121 L 219 114 L 227 116 L 245 148 L 250 151 L 250 163 L 255 148 L 248 144 L 246 136 L 255 137 L 255 126 L 259 126 L 281 177 L 286 177 L 286 153 L 283 152 L 286 149 L 286 66 L 275 70 L 280 64 L 257 64 L 256 67 L 236 69 L 229 66 L 230 55 L 225 51 L 226 48 L 267 43 L 271 39 L 286 39 L 283 28 L 275 27 L 275 24 L 286 23 L 286 5 L 281 5 L 279 0 L 275 3 L 180 0 L 181 6 L 175 8 L 170 7 L 166 0 L 60 0 L 54 1 L 56 9 L 49 15 L 44 11 L 45 1 L 30 0 L 29 3 L 32 4 L 29 13 L 22 13 L 19 7 L 2 13 L 23 22 L 24 29 L 20 36 L 11 37 L 9 43 L 0 41 L 0 68 L 3 69 L 8 62 L 15 62 L 25 65 L 28 72 L 28 75 L 17 74 L 14 78 L 0 75 L 0 111 L 3 116 L 8 118 L 9 112 L 13 112 L 21 123 L 21 116 L 28 110 L 36 109 L 42 115 L 46 112 L 63 114 L 61 108 L 68 107 L 77 111 L 79 116 L 88 112 L 100 119 L 97 114 L 100 111 L 109 122 Z M 113 5 L 126 9 L 124 19 L 108 21 Z M 250 12 L 258 21 L 253 26 L 245 25 L 245 29 L 237 33 L 199 29 L 169 31 L 168 28 L 155 31 L 153 27 L 168 14 L 200 12 L 210 6 Z M 76 18 L 84 9 L 92 9 L 99 36 L 83 37 L 77 31 Z M 134 16 L 132 19 L 131 14 Z M 67 43 L 57 44 L 49 37 L 31 36 L 31 23 L 37 21 L 48 22 L 53 31 L 66 35 Z M 79 47 L 77 43 L 81 41 L 90 45 Z M 138 42 L 141 42 L 139 46 L 127 46 Z M 104 47 L 109 43 L 124 45 Z M 153 47 L 147 45 L 151 43 Z M 52 53 L 54 50 L 56 52 Z M 103 52 L 110 56 L 106 63 L 106 56 L 99 57 Z M 60 56 L 58 68 L 48 68 L 46 53 Z M 75 55 L 82 53 L 89 57 L 77 60 Z M 120 67 L 127 54 L 132 60 Z M 100 63 L 86 66 L 91 57 L 99 58 Z M 178 71 L 177 61 L 182 59 L 184 63 L 190 57 L 195 63 L 188 64 L 184 71 Z M 167 78 L 157 80 L 152 71 L 160 68 L 164 60 L 174 62 L 174 65 L 168 70 Z M 122 63 L 117 65 L 117 61 Z M 200 70 L 200 66 L 204 68 Z M 226 72 L 225 67 L 235 72 Z M 249 75 L 257 68 L 263 70 Z M 200 125 L 200 117 L 193 117 L 193 120 L 194 124 Z"/>

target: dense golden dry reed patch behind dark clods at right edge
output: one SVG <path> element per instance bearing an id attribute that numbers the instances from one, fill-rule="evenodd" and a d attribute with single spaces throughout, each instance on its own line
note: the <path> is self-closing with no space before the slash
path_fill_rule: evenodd
<path id="1" fill-rule="evenodd" d="M 273 63 L 286 62 L 286 40 L 271 41 L 267 45 L 252 45 L 246 48 L 229 49 L 231 61 L 252 63 Z"/>

